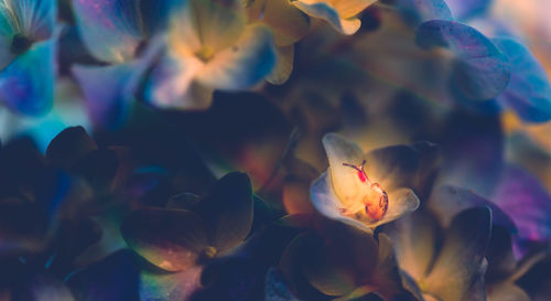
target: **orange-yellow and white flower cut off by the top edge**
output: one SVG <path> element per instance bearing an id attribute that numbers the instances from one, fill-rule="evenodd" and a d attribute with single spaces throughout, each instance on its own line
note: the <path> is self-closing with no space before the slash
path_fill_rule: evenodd
<path id="1" fill-rule="evenodd" d="M 356 17 L 375 0 L 296 0 L 293 6 L 306 14 L 327 21 L 344 34 L 354 34 L 361 22 Z"/>

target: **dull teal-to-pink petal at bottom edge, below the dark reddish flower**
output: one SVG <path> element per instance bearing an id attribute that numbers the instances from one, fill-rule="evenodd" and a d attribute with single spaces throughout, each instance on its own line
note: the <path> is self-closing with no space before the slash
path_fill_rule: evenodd
<path id="1" fill-rule="evenodd" d="M 203 267 L 193 267 L 175 273 L 142 271 L 140 300 L 181 301 L 199 289 Z"/>

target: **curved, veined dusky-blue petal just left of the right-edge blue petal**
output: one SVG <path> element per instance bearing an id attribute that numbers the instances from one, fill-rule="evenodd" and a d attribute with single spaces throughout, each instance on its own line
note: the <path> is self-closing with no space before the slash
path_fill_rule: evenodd
<path id="1" fill-rule="evenodd" d="M 477 30 L 433 20 L 419 26 L 415 40 L 423 49 L 444 47 L 454 55 L 451 88 L 457 99 L 491 99 L 507 87 L 510 78 L 507 56 Z"/>

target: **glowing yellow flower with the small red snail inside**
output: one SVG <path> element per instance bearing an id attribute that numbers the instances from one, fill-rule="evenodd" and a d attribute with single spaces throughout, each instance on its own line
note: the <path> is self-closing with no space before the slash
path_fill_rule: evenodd
<path id="1" fill-rule="evenodd" d="M 320 213 L 370 232 L 418 208 L 413 191 L 401 186 L 408 182 L 404 175 L 417 169 L 408 166 L 415 158 L 400 162 L 404 159 L 400 148 L 364 154 L 337 133 L 327 133 L 323 144 L 329 168 L 311 186 L 312 202 Z"/>

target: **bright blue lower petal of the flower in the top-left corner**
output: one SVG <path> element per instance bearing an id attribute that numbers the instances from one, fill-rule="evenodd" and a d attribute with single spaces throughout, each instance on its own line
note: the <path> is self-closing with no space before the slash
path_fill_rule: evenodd
<path id="1" fill-rule="evenodd" d="M 53 105 L 56 41 L 35 44 L 0 72 L 0 101 L 14 111 L 42 115 Z"/>

